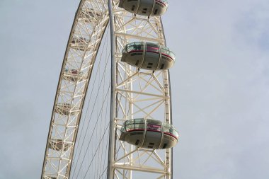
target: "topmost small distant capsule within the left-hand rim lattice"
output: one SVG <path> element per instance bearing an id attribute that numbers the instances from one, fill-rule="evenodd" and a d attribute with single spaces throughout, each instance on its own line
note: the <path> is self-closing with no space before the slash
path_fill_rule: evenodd
<path id="1" fill-rule="evenodd" d="M 83 8 L 79 14 L 79 21 L 85 21 L 87 23 L 98 21 L 101 18 L 102 13 L 94 11 L 93 8 Z"/>

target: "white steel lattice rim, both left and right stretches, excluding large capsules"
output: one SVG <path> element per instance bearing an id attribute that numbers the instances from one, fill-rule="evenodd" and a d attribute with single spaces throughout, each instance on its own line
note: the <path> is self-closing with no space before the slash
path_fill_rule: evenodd
<path id="1" fill-rule="evenodd" d="M 108 178 L 131 179 L 139 172 L 147 173 L 147 178 L 172 178 L 171 149 L 138 149 L 119 140 L 125 120 L 144 117 L 171 123 L 168 71 L 139 70 L 120 62 L 122 48 L 128 42 L 165 45 L 161 18 L 135 16 L 118 8 L 118 0 L 81 0 L 59 76 L 42 179 L 69 178 L 88 82 L 109 19 L 113 77 Z M 79 74 L 70 80 L 64 74 L 65 69 L 76 69 Z M 69 107 L 59 110 L 62 104 Z M 63 110 L 67 112 L 59 112 Z M 61 139 L 64 147 L 50 149 L 53 139 Z"/>

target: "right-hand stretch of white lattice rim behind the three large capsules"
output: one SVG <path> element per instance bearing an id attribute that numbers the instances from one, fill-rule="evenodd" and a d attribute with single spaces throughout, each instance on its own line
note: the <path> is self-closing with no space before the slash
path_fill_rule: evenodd
<path id="1" fill-rule="evenodd" d="M 113 125 L 110 129 L 113 140 L 110 151 L 114 154 L 110 157 L 108 179 L 132 178 L 132 171 L 147 173 L 147 178 L 150 178 L 149 173 L 159 173 L 157 178 L 171 178 L 171 149 L 138 149 L 119 140 L 120 127 L 125 120 L 154 118 L 154 113 L 163 112 L 164 116 L 159 118 L 171 123 L 168 71 L 139 70 L 120 62 L 122 49 L 128 42 L 147 41 L 165 45 L 161 18 L 135 16 L 118 8 L 117 1 L 111 2 L 113 13 L 110 13 L 110 19 L 113 21 L 110 24 L 114 28 L 111 35 L 115 38 L 112 39 L 115 42 L 112 51 L 115 54 L 115 88 L 112 98 L 115 98 L 116 106 L 115 112 L 112 112 Z M 159 155 L 162 152 L 164 154 Z"/>

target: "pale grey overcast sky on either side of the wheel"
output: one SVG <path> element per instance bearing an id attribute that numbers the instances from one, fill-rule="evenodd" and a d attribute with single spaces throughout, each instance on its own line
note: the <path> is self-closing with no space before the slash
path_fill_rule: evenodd
<path id="1" fill-rule="evenodd" d="M 79 1 L 0 0 L 0 179 L 40 178 Z M 174 179 L 269 177 L 269 1 L 173 0 Z"/>

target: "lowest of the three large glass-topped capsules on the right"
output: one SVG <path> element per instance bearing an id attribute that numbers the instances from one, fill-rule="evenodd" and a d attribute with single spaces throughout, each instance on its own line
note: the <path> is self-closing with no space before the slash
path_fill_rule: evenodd
<path id="1" fill-rule="evenodd" d="M 169 149 L 178 142 L 176 129 L 159 120 L 134 119 L 124 122 L 120 140 L 147 149 Z"/>

